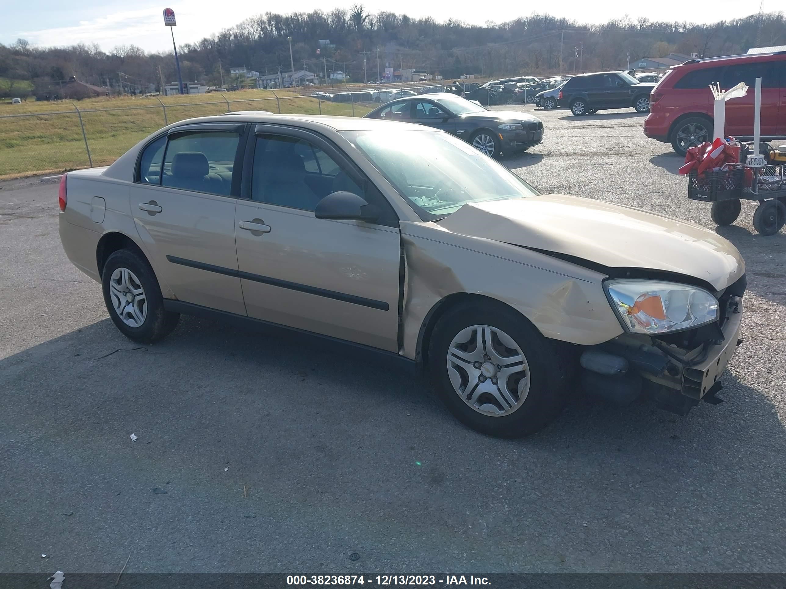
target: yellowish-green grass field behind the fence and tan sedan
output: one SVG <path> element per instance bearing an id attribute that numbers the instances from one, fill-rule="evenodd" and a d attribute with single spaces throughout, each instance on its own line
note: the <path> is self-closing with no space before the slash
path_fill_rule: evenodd
<path id="1" fill-rule="evenodd" d="M 352 104 L 319 102 L 285 90 L 241 90 L 227 93 L 227 105 L 218 93 L 161 97 L 167 122 L 233 111 L 264 110 L 282 114 L 352 115 Z M 268 100 L 259 100 L 268 99 Z M 213 104 L 211 104 L 213 103 Z M 57 174 L 90 166 L 85 139 L 74 104 L 82 111 L 87 143 L 94 166 L 106 166 L 138 141 L 164 126 L 163 108 L 155 97 L 91 98 L 71 103 L 27 101 L 0 103 L 0 179 Z M 185 104 L 192 104 L 185 106 Z M 112 110 L 107 110 L 112 109 Z M 117 109 L 117 110 L 114 110 Z M 354 115 L 369 112 L 354 104 Z M 6 117 L 5 115 L 32 115 Z"/>

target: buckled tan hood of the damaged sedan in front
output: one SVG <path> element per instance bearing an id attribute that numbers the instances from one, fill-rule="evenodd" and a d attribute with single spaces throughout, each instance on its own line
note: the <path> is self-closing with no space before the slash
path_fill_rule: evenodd
<path id="1" fill-rule="evenodd" d="M 745 272 L 732 243 L 689 221 L 560 194 L 465 204 L 451 232 L 566 254 L 608 268 L 695 276 L 721 290 Z"/>

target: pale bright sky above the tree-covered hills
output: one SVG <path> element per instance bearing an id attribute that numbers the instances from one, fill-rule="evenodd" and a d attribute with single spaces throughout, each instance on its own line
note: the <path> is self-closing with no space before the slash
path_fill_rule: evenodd
<path id="1" fill-rule="evenodd" d="M 163 25 L 162 11 L 167 6 L 174 9 L 178 26 L 174 28 L 178 45 L 196 42 L 200 38 L 218 33 L 248 16 L 272 10 L 279 13 L 310 12 L 319 8 L 328 12 L 337 6 L 348 8 L 353 0 L 288 0 L 271 5 L 259 0 L 163 0 L 169 5 L 148 0 L 120 2 L 119 0 L 0 0 L 0 43 L 9 45 L 17 38 L 26 38 L 36 46 L 64 46 L 79 42 L 97 43 L 108 51 L 117 45 L 134 44 L 145 51 L 167 51 L 172 39 Z M 484 24 L 487 20 L 504 22 L 528 16 L 537 7 L 540 13 L 575 19 L 579 23 L 602 23 L 622 16 L 620 6 L 631 18 L 646 16 L 650 20 L 688 20 L 696 23 L 739 18 L 754 13 L 756 2 L 744 0 L 712 0 L 712 2 L 685 2 L 684 0 L 658 0 L 658 2 L 625 2 L 605 0 L 562 0 L 535 4 L 516 0 L 501 2 L 467 2 L 466 0 L 361 0 L 365 8 L 376 13 L 391 10 L 413 17 L 432 16 L 445 21 L 452 17 L 470 24 Z M 220 9 L 230 6 L 230 9 Z M 707 6 L 713 7 L 708 10 Z M 526 8 L 525 8 L 526 7 Z M 764 12 L 784 9 L 784 0 L 763 0 Z M 219 8 L 219 9 L 217 9 Z"/>

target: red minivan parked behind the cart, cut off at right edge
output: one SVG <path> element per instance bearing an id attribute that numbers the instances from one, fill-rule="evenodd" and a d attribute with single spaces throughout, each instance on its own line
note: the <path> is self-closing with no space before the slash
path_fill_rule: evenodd
<path id="1" fill-rule="evenodd" d="M 726 103 L 725 134 L 753 137 L 756 78 L 762 79 L 762 139 L 786 137 L 786 51 L 690 60 L 675 65 L 649 95 L 647 137 L 670 143 L 685 155 L 688 148 L 712 141 L 714 105 L 709 86 L 729 90 L 739 82 L 747 96 Z"/>

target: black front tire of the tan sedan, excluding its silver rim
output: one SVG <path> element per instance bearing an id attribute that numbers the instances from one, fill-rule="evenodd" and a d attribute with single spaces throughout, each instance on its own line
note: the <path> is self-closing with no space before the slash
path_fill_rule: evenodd
<path id="1" fill-rule="evenodd" d="M 489 325 L 504 329 L 527 360 L 529 391 L 521 404 L 507 415 L 486 415 L 470 407 L 450 382 L 448 350 L 466 327 Z M 495 437 L 523 437 L 542 430 L 560 414 L 567 399 L 567 382 L 574 373 L 565 364 L 575 358 L 561 357 L 555 343 L 544 338 L 523 316 L 504 305 L 463 304 L 439 318 L 428 342 L 428 371 L 443 403 L 466 426 Z"/>

